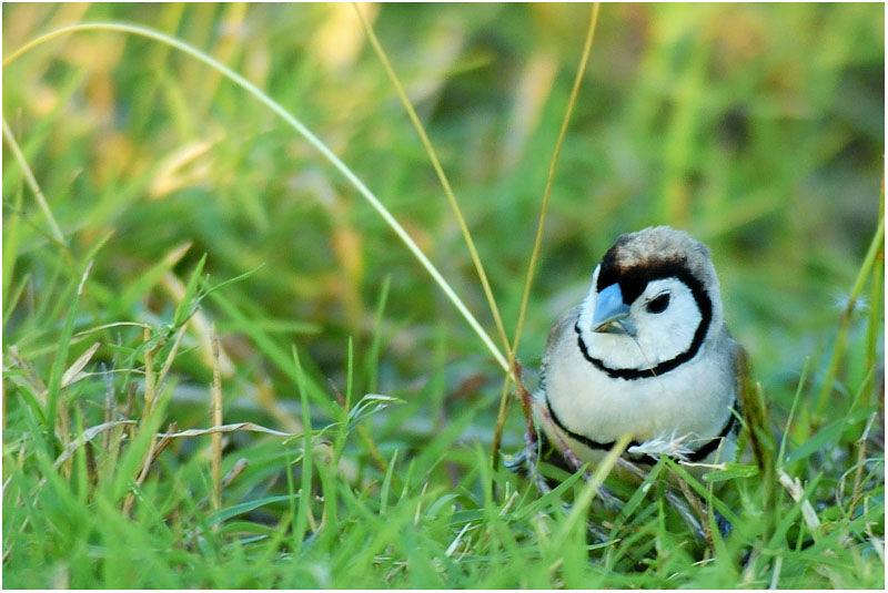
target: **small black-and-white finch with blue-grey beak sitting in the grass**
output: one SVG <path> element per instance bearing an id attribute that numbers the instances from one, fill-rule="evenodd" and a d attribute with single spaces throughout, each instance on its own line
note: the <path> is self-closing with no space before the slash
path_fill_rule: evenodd
<path id="1" fill-rule="evenodd" d="M 549 331 L 542 426 L 583 461 L 627 432 L 635 460 L 731 461 L 744 357 L 706 245 L 668 226 L 620 235 Z"/>

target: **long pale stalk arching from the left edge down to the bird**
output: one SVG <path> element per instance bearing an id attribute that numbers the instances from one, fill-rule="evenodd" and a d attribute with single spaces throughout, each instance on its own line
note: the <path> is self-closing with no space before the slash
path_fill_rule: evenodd
<path id="1" fill-rule="evenodd" d="M 8 58 L 3 59 L 3 68 L 14 61 L 17 58 L 26 53 L 27 51 L 46 43 L 57 37 L 73 33 L 79 31 L 115 31 L 119 33 L 131 33 L 140 37 L 144 37 L 148 39 L 152 39 L 154 41 L 160 41 L 161 43 L 165 43 L 174 49 L 178 49 L 196 60 L 205 63 L 210 68 L 213 68 L 225 78 L 234 82 L 238 86 L 242 88 L 249 94 L 253 95 L 258 99 L 262 104 L 271 109 L 274 113 L 276 113 L 282 120 L 284 120 L 291 127 L 293 127 L 296 132 L 302 135 L 312 146 L 314 146 L 330 163 L 342 173 L 343 176 L 357 190 L 357 192 L 364 196 L 364 198 L 370 203 L 371 206 L 382 216 L 389 227 L 397 235 L 397 237 L 406 245 L 407 249 L 418 259 L 420 264 L 425 268 L 425 270 L 432 276 L 435 283 L 441 287 L 447 298 L 453 303 L 454 307 L 460 311 L 460 314 L 465 318 L 472 329 L 477 334 L 484 345 L 493 355 L 496 362 L 503 368 L 504 371 L 509 372 L 509 365 L 506 357 L 503 352 L 497 348 L 497 346 L 493 342 L 491 337 L 481 327 L 477 319 L 472 315 L 465 304 L 456 296 L 451 285 L 441 273 L 435 268 L 432 262 L 425 256 L 425 254 L 420 249 L 416 243 L 411 238 L 404 227 L 392 216 L 392 214 L 386 209 L 386 207 L 376 198 L 376 196 L 364 185 L 364 183 L 357 178 L 357 176 L 349 168 L 345 163 L 343 163 L 317 136 L 315 136 L 305 125 L 302 124 L 296 117 L 291 115 L 280 103 L 274 101 L 263 91 L 261 91 L 258 86 L 251 83 L 249 80 L 244 79 L 233 70 L 231 70 L 225 64 L 219 62 L 214 58 L 203 53 L 202 51 L 184 43 L 175 38 L 172 38 L 165 33 L 161 33 L 160 31 L 155 31 L 153 29 L 149 29 L 145 27 L 139 27 L 135 24 L 125 24 L 125 23 L 117 23 L 117 22 L 93 22 L 93 23 L 81 23 L 81 24 L 72 24 L 69 27 L 62 27 L 56 29 L 54 31 L 50 31 L 37 39 L 33 39 L 12 52 Z"/>

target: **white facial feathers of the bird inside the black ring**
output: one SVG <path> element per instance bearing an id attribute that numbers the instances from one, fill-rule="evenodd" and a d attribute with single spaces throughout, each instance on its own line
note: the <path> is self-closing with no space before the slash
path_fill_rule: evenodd
<path id="1" fill-rule="evenodd" d="M 581 337 L 591 356 L 612 369 L 648 369 L 690 348 L 703 315 L 690 288 L 673 277 L 648 282 L 629 306 L 626 321 L 634 326 L 634 336 L 594 331 L 598 272 L 596 268 L 579 316 Z"/>

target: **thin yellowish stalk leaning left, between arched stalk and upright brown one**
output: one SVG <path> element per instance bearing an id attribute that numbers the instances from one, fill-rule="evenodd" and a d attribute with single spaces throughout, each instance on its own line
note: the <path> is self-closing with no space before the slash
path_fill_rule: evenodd
<path id="1" fill-rule="evenodd" d="M 500 334 L 500 339 L 503 341 L 503 348 L 506 351 L 507 357 L 512 357 L 512 352 L 508 347 L 508 336 L 506 336 L 506 329 L 503 325 L 503 318 L 500 315 L 500 307 L 496 305 L 496 298 L 494 298 L 493 290 L 491 289 L 491 284 L 487 280 L 487 274 L 484 272 L 484 265 L 481 263 L 481 257 L 478 256 L 478 252 L 475 248 L 475 242 L 472 241 L 472 234 L 468 231 L 468 225 L 465 223 L 465 217 L 463 216 L 463 212 L 460 209 L 460 204 L 456 202 L 456 196 L 453 194 L 453 190 L 451 188 L 451 183 L 447 180 L 447 175 L 444 173 L 444 168 L 441 166 L 441 161 L 437 157 L 437 153 L 435 153 L 435 149 L 432 146 L 432 141 L 428 140 L 428 134 L 425 133 L 425 127 L 423 127 L 422 122 L 420 122 L 420 117 L 416 115 L 416 110 L 413 109 L 413 104 L 410 102 L 407 98 L 407 93 L 404 92 L 404 88 L 401 84 L 401 81 L 395 74 L 394 68 L 392 67 L 391 61 L 389 60 L 389 55 L 385 53 L 385 50 L 382 48 L 380 40 L 376 38 L 376 32 L 373 30 L 373 25 L 366 19 L 364 13 L 361 11 L 357 2 L 352 2 L 352 7 L 354 7 L 354 11 L 357 12 L 357 17 L 361 19 L 361 24 L 364 27 L 364 31 L 366 32 L 367 39 L 370 40 L 370 44 L 373 47 L 373 50 L 376 52 L 376 55 L 382 62 L 383 68 L 385 69 L 385 73 L 389 75 L 389 80 L 391 81 L 392 85 L 395 88 L 395 92 L 397 93 L 397 98 L 401 100 L 401 104 L 404 105 L 404 110 L 407 112 L 407 116 L 410 121 L 413 123 L 413 127 L 416 130 L 416 133 L 420 134 L 420 140 L 425 147 L 425 152 L 428 153 L 428 159 L 432 161 L 432 166 L 435 168 L 435 173 L 437 174 L 438 181 L 441 181 L 441 185 L 444 188 L 444 194 L 447 196 L 447 202 L 451 204 L 451 208 L 453 209 L 454 216 L 456 216 L 456 222 L 460 224 L 460 231 L 463 233 L 463 238 L 465 238 L 465 244 L 468 247 L 468 253 L 472 256 L 472 263 L 475 265 L 475 270 L 478 273 L 478 278 L 481 279 L 481 286 L 484 289 L 484 296 L 487 297 L 487 305 L 491 307 L 491 313 L 493 314 L 494 324 L 496 324 L 496 331 Z"/>

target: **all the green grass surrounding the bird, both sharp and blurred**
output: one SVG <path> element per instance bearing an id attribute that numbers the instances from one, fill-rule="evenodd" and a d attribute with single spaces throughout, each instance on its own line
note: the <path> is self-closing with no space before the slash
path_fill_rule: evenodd
<path id="1" fill-rule="evenodd" d="M 511 338 L 589 9 L 362 10 Z M 717 487 L 672 462 L 642 488 L 610 477 L 620 513 L 578 474 L 546 467 L 563 481 L 541 495 L 492 468 L 502 369 L 269 103 L 122 31 L 7 63 L 99 21 L 209 54 L 316 134 L 498 344 L 351 6 L 2 16 L 4 586 L 884 586 L 882 6 L 602 7 L 518 359 L 532 375 L 617 234 L 686 228 L 712 247 L 773 458 Z M 513 405 L 504 452 L 523 430 Z M 682 480 L 704 523 L 734 519 L 726 538 L 695 539 L 667 497 Z"/>

